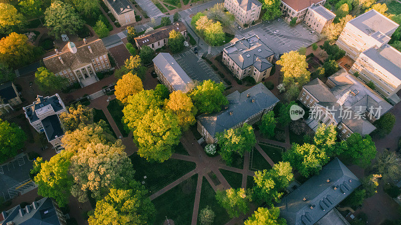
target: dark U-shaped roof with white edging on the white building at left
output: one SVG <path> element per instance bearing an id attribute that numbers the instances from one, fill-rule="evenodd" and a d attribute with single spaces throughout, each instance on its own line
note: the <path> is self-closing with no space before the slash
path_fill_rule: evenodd
<path id="1" fill-rule="evenodd" d="M 60 99 L 61 101 L 61 99 Z M 39 110 L 45 106 L 51 105 L 53 107 L 53 110 L 57 113 L 60 110 L 63 110 L 63 106 L 60 104 L 59 98 L 57 95 L 53 95 L 51 97 L 47 96 L 47 97 L 42 97 L 40 95 L 38 95 L 38 97 L 36 97 L 36 101 L 29 106 L 24 107 L 24 110 L 28 116 L 28 119 L 30 120 L 30 122 L 35 122 L 37 120 L 39 120 L 38 116 L 36 115 L 35 111 Z"/>

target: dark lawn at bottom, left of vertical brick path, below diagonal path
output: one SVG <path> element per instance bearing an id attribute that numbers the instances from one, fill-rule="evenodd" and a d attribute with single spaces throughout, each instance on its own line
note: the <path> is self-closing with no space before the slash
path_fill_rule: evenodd
<path id="1" fill-rule="evenodd" d="M 155 225 L 163 224 L 166 216 L 175 224 L 190 224 L 195 202 L 197 174 L 153 199 L 156 207 Z"/>

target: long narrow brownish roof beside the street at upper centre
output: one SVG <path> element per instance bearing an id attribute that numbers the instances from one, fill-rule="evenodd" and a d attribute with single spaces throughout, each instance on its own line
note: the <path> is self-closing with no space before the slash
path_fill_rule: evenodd
<path id="1" fill-rule="evenodd" d="M 152 43 L 168 38 L 170 36 L 170 31 L 172 30 L 183 32 L 186 31 L 186 27 L 182 22 L 176 22 L 136 37 L 135 42 L 138 43 L 139 47 L 150 45 Z"/>

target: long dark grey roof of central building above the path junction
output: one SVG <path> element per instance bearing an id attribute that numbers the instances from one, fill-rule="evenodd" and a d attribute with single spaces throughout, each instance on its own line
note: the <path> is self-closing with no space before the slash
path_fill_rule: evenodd
<path id="1" fill-rule="evenodd" d="M 250 97 L 247 97 L 248 93 Z M 227 100 L 229 101 L 228 109 L 212 115 L 198 117 L 198 121 L 202 123 L 212 137 L 215 137 L 216 133 L 231 129 L 279 101 L 262 83 L 253 86 L 243 93 L 235 91 L 227 96 Z M 230 112 L 232 112 L 232 115 L 230 115 Z"/>

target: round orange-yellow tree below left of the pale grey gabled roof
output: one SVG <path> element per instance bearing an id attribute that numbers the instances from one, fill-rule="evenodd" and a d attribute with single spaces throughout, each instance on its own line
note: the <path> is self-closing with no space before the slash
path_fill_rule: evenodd
<path id="1" fill-rule="evenodd" d="M 127 104 L 128 96 L 139 93 L 142 90 L 143 85 L 141 79 L 132 73 L 127 73 L 117 81 L 114 95 L 116 99 L 120 100 L 123 104 Z"/>

